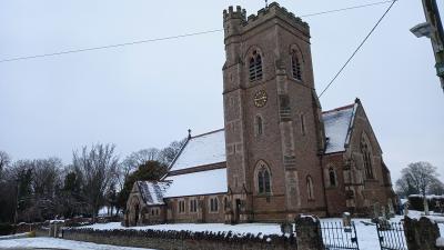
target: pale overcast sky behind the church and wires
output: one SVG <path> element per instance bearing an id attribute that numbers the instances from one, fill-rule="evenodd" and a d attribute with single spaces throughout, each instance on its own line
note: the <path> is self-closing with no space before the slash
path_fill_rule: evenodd
<path id="1" fill-rule="evenodd" d="M 377 1 L 377 0 L 374 0 Z M 282 0 L 296 16 L 370 3 Z M 438 1 L 442 4 L 441 1 Z M 222 28 L 222 11 L 263 1 L 0 0 L 0 60 Z M 303 18 L 317 93 L 389 3 Z M 324 110 L 361 99 L 392 176 L 408 162 L 444 168 L 444 94 L 420 0 L 401 0 L 321 98 Z M 223 127 L 223 33 L 0 63 L 0 150 L 60 157 L 94 142 L 121 157 Z M 441 171 L 443 172 L 443 171 Z"/>

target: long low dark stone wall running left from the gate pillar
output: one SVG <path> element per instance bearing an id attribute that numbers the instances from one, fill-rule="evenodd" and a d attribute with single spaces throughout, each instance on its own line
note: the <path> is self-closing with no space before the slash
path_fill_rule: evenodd
<path id="1" fill-rule="evenodd" d="M 238 236 L 233 232 L 191 232 L 158 230 L 64 229 L 63 239 L 121 247 L 159 250 L 295 250 L 293 236 Z"/>

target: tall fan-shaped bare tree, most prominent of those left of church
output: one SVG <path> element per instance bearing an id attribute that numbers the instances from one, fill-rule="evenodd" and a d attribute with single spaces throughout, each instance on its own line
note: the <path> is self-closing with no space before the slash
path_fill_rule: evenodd
<path id="1" fill-rule="evenodd" d="M 115 178 L 119 163 L 113 144 L 93 144 L 73 152 L 72 164 L 82 180 L 82 196 L 90 206 L 95 219 L 99 209 L 104 204 L 105 193 Z"/>

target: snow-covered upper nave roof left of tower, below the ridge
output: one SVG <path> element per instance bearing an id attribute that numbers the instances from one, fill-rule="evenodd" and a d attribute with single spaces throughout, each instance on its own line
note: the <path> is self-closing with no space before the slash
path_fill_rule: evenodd
<path id="1" fill-rule="evenodd" d="M 226 161 L 223 129 L 192 137 L 170 167 L 170 171 Z"/>

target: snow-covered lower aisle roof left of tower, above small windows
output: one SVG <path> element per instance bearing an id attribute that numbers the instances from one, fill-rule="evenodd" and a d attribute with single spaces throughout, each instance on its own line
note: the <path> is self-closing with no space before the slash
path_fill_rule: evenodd
<path id="1" fill-rule="evenodd" d="M 171 176 L 164 180 L 171 182 L 164 198 L 228 192 L 226 168 Z"/>

